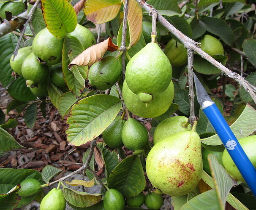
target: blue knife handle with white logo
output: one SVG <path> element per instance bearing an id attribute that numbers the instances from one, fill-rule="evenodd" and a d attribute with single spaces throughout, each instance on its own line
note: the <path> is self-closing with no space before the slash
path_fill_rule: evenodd
<path id="1" fill-rule="evenodd" d="M 254 197 L 256 196 L 256 169 L 250 159 L 245 154 L 234 133 L 229 128 L 228 123 L 222 116 L 216 104 L 212 104 L 203 109 L 204 114 L 216 130 L 230 157 L 233 159 L 238 170 L 242 174 L 246 183 L 250 187 Z"/>

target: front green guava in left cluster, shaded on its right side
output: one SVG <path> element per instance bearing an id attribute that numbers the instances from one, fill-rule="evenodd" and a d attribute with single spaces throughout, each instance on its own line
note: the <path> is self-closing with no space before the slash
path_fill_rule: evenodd
<path id="1" fill-rule="evenodd" d="M 41 84 L 46 82 L 49 75 L 49 67 L 40 64 L 34 53 L 30 53 L 22 64 L 22 76 L 25 80 L 31 80 Z"/>

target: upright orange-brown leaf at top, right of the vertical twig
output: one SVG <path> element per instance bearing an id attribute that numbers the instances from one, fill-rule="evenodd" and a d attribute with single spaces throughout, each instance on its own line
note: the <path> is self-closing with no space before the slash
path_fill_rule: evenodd
<path id="1" fill-rule="evenodd" d="M 123 1 L 125 2 L 125 0 Z M 129 0 L 128 26 L 130 33 L 130 48 L 139 41 L 142 35 L 142 9 L 136 0 Z"/>

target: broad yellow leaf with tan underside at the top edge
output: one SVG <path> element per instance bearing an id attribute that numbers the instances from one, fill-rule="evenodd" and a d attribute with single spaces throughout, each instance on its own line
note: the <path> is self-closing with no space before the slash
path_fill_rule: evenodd
<path id="1" fill-rule="evenodd" d="M 120 8 L 120 0 L 87 0 L 84 5 L 84 14 L 87 20 L 102 24 L 114 19 Z"/>

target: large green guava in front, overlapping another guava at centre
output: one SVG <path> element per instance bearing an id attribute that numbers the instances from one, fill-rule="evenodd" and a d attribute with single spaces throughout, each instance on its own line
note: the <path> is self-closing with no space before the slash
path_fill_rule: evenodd
<path id="1" fill-rule="evenodd" d="M 128 62 L 125 79 L 129 89 L 148 104 L 168 88 L 172 66 L 158 44 L 148 43 Z"/>

